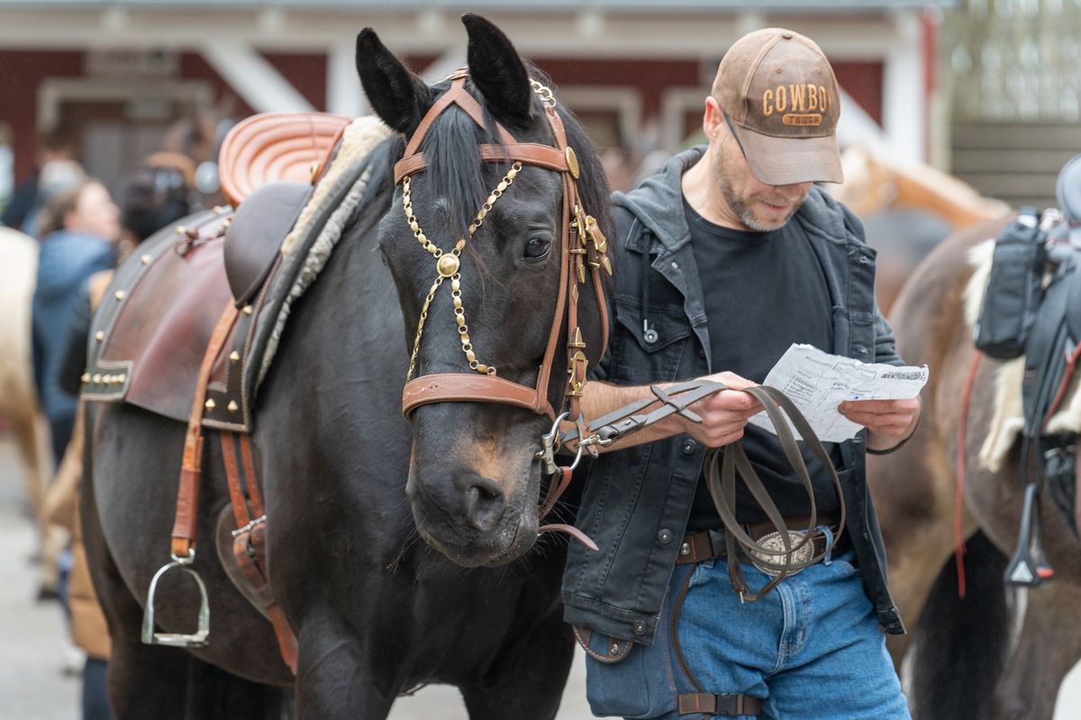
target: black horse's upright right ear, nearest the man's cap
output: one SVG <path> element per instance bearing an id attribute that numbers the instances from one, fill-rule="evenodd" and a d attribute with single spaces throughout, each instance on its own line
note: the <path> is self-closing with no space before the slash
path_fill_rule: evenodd
<path id="1" fill-rule="evenodd" d="M 480 15 L 466 13 L 462 23 L 469 32 L 466 57 L 469 77 L 497 119 L 524 123 L 530 119 L 530 76 L 518 51 L 503 31 Z"/>

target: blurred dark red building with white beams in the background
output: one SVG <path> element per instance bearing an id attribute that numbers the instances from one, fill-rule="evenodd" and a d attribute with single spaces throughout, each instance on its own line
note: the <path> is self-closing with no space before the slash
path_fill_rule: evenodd
<path id="1" fill-rule="evenodd" d="M 0 0 L 0 195 L 40 144 L 115 184 L 165 148 L 213 159 L 252 112 L 365 111 L 353 42 L 372 26 L 437 80 L 464 62 L 466 11 L 549 72 L 616 185 L 700 126 L 703 92 L 743 33 L 783 25 L 833 62 L 846 144 L 925 159 L 936 141 L 940 9 L 918 0 Z M 660 152 L 656 153 L 657 155 Z M 643 165 L 643 162 L 645 163 Z M 623 178 L 620 181 L 619 178 Z"/>

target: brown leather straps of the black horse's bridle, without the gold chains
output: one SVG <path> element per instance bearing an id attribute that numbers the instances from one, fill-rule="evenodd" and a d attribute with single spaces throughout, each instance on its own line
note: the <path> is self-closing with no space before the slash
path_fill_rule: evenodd
<path id="1" fill-rule="evenodd" d="M 427 167 L 427 159 L 421 152 L 424 136 L 435 120 L 452 105 L 458 106 L 480 126 L 484 127 L 484 118 L 480 105 L 466 91 L 467 73 L 458 71 L 452 76 L 448 90 L 428 110 L 416 132 L 405 147 L 405 153 L 395 164 L 395 182 L 402 182 L 410 176 Z M 518 142 L 515 137 L 499 123 L 495 123 L 499 140 L 503 145 L 479 146 L 480 158 L 484 162 L 521 163 L 535 165 L 545 169 L 556 171 L 563 175 L 563 218 L 561 235 L 561 267 L 559 294 L 552 318 L 548 344 L 544 361 L 537 372 L 536 385 L 530 388 L 521 383 L 498 378 L 488 366 L 481 366 L 492 373 L 448 372 L 422 376 L 409 379 L 402 391 L 402 413 L 409 419 L 413 410 L 422 405 L 445 402 L 484 402 L 504 403 L 522 407 L 537 415 L 556 417 L 556 411 L 548 400 L 548 385 L 551 379 L 556 351 L 560 342 L 560 329 L 566 327 L 566 348 L 569 365 L 568 386 L 564 392 L 574 417 L 580 415 L 578 398 L 586 380 L 585 342 L 578 327 L 577 303 L 578 285 L 586 282 L 586 266 L 589 266 L 591 281 L 600 309 L 602 323 L 602 347 L 608 345 L 608 303 L 601 282 L 601 270 L 611 272 L 606 253 L 606 241 L 596 220 L 587 216 L 578 198 L 576 180 L 579 168 L 573 148 L 568 146 L 563 123 L 556 111 L 556 103 L 551 92 L 533 84 L 534 92 L 540 96 L 545 105 L 545 116 L 555 136 L 555 147 L 533 142 Z M 444 256 L 445 257 L 445 256 Z M 431 296 L 429 296 L 430 298 Z M 423 316 L 422 316 L 423 323 Z M 422 325 L 423 327 L 423 325 Z M 419 342 L 419 331 L 417 334 Z"/>

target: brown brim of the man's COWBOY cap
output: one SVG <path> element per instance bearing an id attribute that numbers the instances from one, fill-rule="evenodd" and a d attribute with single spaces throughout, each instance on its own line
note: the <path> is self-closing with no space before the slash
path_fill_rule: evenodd
<path id="1" fill-rule="evenodd" d="M 733 130 L 750 171 L 766 185 L 844 181 L 837 135 L 774 137 L 739 125 Z"/>

